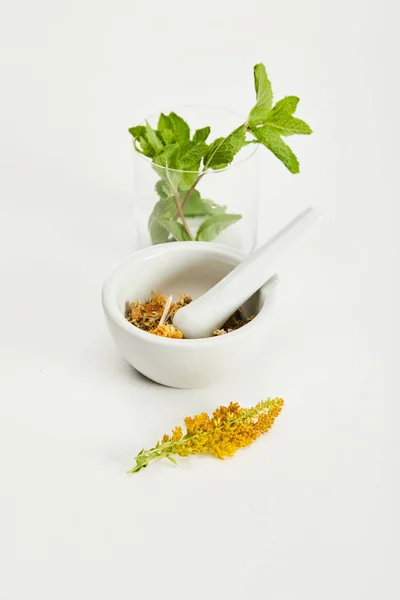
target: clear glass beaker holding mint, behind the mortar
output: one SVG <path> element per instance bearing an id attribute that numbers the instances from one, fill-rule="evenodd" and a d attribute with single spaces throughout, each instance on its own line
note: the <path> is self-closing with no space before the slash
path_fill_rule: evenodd
<path id="1" fill-rule="evenodd" d="M 191 134 L 210 126 L 206 143 L 226 137 L 245 122 L 242 115 L 222 108 L 179 107 L 164 114 L 169 112 L 183 117 Z M 146 119 L 154 129 L 158 117 Z M 226 168 L 203 173 L 154 165 L 134 148 L 136 248 L 199 239 L 251 252 L 257 243 L 257 149 L 256 144 L 248 144 Z"/>

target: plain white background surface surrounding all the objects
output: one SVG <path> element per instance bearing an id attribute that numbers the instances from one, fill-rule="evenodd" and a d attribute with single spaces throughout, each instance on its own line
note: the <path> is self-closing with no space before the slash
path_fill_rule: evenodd
<path id="1" fill-rule="evenodd" d="M 398 598 L 398 4 L 3 9 L 1 600 Z M 325 226 L 257 374 L 166 389 L 120 359 L 100 304 L 132 249 L 126 130 L 163 105 L 246 112 L 260 60 L 315 130 L 291 139 L 300 176 L 265 154 L 260 239 L 304 204 Z M 275 395 L 233 460 L 124 474 L 186 414 Z"/>

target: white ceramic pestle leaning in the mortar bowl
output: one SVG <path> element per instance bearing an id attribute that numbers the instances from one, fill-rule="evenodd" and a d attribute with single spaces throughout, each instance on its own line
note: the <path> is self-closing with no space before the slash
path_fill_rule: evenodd
<path id="1" fill-rule="evenodd" d="M 186 338 L 205 338 L 229 317 L 283 264 L 293 242 L 319 219 L 308 207 L 205 294 L 179 309 L 173 323 Z"/>

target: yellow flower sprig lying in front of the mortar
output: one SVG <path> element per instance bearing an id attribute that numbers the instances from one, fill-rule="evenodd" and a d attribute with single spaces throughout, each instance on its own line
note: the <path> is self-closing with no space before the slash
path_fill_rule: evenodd
<path id="1" fill-rule="evenodd" d="M 158 458 L 168 458 L 176 464 L 173 454 L 212 454 L 220 459 L 233 456 L 240 448 L 250 446 L 260 435 L 267 433 L 283 404 L 282 398 L 269 398 L 252 408 L 242 408 L 231 402 L 229 406 L 217 408 L 211 417 L 207 413 L 186 417 L 185 435 L 179 425 L 170 436 L 164 434 L 154 448 L 139 452 L 135 457 L 136 466 L 128 473 L 137 473 Z"/>

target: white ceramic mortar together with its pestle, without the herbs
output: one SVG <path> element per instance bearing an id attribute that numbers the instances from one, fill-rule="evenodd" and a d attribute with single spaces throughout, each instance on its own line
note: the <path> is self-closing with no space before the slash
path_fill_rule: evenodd
<path id="1" fill-rule="evenodd" d="M 104 313 L 122 356 L 140 373 L 166 386 L 202 388 L 232 378 L 268 343 L 277 272 L 295 241 L 319 219 L 309 207 L 251 255 L 211 242 L 173 242 L 129 256 L 107 278 Z M 174 325 L 185 339 L 153 335 L 125 318 L 127 301 L 151 291 L 193 301 L 179 309 Z M 210 337 L 241 308 L 255 318 L 237 331 Z"/>

